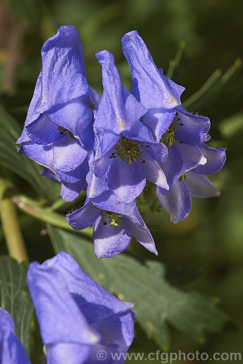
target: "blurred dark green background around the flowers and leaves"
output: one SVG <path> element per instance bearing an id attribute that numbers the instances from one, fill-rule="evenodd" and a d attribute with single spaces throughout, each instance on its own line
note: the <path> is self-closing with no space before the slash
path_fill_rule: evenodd
<path id="1" fill-rule="evenodd" d="M 211 178 L 222 192 L 221 197 L 194 199 L 190 216 L 177 225 L 171 224 L 163 211 L 151 213 L 147 209 L 143 215 L 155 238 L 159 259 L 168 266 L 168 279 L 173 282 L 174 269 L 182 269 L 188 277 L 194 277 L 184 282 L 183 288 L 220 298 L 220 307 L 232 317 L 234 325 L 222 334 L 208 334 L 204 344 L 198 344 L 171 328 L 172 352 L 240 352 L 243 346 L 241 5 L 241 0 L 0 2 L 0 103 L 21 126 L 41 69 L 40 48 L 63 24 L 77 27 L 84 46 L 89 84 L 100 94 L 101 66 L 94 55 L 104 49 L 114 54 L 121 81 L 131 90 L 129 67 L 121 51 L 121 37 L 134 29 L 143 37 L 156 65 L 163 67 L 165 73 L 180 41 L 185 42 L 180 65 L 172 76 L 175 82 L 186 87 L 182 101 L 190 98 L 218 69 L 219 82 L 213 82 L 201 99 L 188 102 L 188 109 L 211 119 L 213 140 L 210 145 L 227 148 L 225 168 Z M 219 69 L 225 76 L 221 77 Z M 13 181 L 19 191 L 35 198 L 36 193 L 27 182 L 4 166 L 0 172 Z M 44 224 L 20 213 L 19 217 L 31 260 L 43 261 L 51 257 L 53 251 Z M 0 252 L 5 254 L 2 232 L 0 239 Z M 152 259 L 138 244 L 132 248 Z M 130 351 L 156 351 L 153 341 L 138 325 L 136 329 Z"/>

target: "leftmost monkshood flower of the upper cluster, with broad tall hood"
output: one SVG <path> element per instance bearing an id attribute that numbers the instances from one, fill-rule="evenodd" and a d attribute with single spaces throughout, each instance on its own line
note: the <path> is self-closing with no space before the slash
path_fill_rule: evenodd
<path id="1" fill-rule="evenodd" d="M 42 49 L 42 70 L 27 113 L 20 152 L 54 173 L 64 185 L 81 181 L 83 166 L 93 145 L 93 108 L 96 91 L 87 82 L 83 47 L 75 27 L 65 25 Z"/>

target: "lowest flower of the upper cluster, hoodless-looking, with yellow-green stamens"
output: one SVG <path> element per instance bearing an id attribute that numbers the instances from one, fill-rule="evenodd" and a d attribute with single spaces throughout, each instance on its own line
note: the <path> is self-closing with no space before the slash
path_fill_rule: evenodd
<path id="1" fill-rule="evenodd" d="M 111 190 L 86 199 L 84 206 L 67 215 L 69 225 L 83 230 L 93 224 L 94 251 L 98 258 L 109 258 L 125 250 L 131 235 L 157 255 L 154 239 L 136 206 L 136 201 L 118 203 Z"/>

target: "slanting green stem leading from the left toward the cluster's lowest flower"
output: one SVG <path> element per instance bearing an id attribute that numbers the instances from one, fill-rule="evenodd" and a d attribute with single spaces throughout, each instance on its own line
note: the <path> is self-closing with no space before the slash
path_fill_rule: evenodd
<path id="1" fill-rule="evenodd" d="M 27 198 L 26 196 L 17 195 L 14 196 L 13 202 L 23 212 L 28 215 L 34 216 L 37 219 L 47 222 L 51 225 L 63 228 L 69 231 L 73 231 L 72 227 L 67 223 L 65 217 L 61 214 L 55 213 L 49 208 L 40 208 L 34 204 L 34 201 Z M 82 233 L 92 237 L 92 228 L 81 230 Z"/>

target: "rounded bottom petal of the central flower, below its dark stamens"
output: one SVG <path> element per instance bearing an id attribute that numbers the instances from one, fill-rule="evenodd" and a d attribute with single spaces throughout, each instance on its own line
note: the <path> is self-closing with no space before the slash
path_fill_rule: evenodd
<path id="1" fill-rule="evenodd" d="M 107 180 L 118 202 L 131 202 L 140 195 L 145 186 L 144 165 L 138 160 L 128 165 L 121 158 L 113 158 L 107 170 Z"/>

